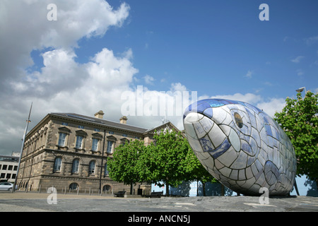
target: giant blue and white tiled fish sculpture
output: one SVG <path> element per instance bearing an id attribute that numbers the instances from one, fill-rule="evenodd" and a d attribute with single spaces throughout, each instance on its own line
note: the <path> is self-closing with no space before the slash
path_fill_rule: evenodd
<path id="1" fill-rule="evenodd" d="M 189 145 L 220 183 L 239 194 L 287 196 L 296 174 L 295 150 L 281 126 L 246 102 L 199 100 L 183 116 Z"/>

